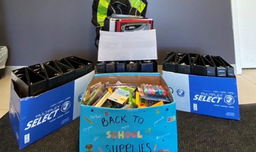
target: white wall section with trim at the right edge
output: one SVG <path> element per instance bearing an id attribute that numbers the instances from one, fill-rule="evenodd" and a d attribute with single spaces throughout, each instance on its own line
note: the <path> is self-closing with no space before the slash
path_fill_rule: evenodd
<path id="1" fill-rule="evenodd" d="M 237 48 L 239 45 L 235 47 L 238 51 L 236 55 L 239 55 L 240 49 L 242 68 L 256 68 L 256 0 L 232 0 L 232 3 L 235 46 L 240 43 L 240 48 Z M 237 12 L 234 12 L 235 9 Z M 235 20 L 238 25 L 234 24 Z"/>

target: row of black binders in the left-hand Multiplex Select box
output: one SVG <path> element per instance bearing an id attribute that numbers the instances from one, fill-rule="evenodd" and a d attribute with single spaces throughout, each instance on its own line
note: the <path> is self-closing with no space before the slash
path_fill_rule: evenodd
<path id="1" fill-rule="evenodd" d="M 75 56 L 12 71 L 14 90 L 20 98 L 37 96 L 94 70 L 94 63 Z"/>

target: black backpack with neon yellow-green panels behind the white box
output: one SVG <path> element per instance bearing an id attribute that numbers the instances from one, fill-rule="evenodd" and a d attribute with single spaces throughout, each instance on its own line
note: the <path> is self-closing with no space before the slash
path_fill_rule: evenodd
<path id="1" fill-rule="evenodd" d="M 96 38 L 100 39 L 100 28 L 104 20 L 114 14 L 136 15 L 146 17 L 147 0 L 94 0 L 92 4 L 92 24 L 96 27 Z"/>

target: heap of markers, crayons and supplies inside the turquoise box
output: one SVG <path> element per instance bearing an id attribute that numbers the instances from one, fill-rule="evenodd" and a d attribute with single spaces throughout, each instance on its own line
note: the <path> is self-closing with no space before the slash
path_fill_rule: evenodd
<path id="1" fill-rule="evenodd" d="M 150 85 L 147 84 L 147 86 L 150 88 Z M 95 107 L 146 108 L 172 102 L 166 93 L 156 93 L 157 89 L 154 94 L 146 94 L 142 84 L 122 84 L 120 81 L 117 81 L 116 84 L 109 84 L 109 82 L 101 84 L 100 82 L 91 86 L 90 90 L 91 93 L 83 100 L 83 104 Z M 152 88 L 152 90 L 154 89 Z M 161 92 L 166 91 L 161 90 Z"/>

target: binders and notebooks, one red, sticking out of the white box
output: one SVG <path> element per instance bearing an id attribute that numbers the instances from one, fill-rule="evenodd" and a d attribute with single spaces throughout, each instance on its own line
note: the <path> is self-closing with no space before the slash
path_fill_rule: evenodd
<path id="1" fill-rule="evenodd" d="M 104 20 L 104 31 L 132 32 L 154 29 L 154 20 L 141 16 L 112 14 Z"/>

